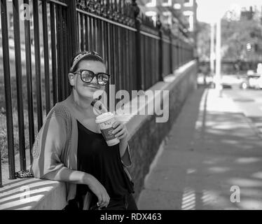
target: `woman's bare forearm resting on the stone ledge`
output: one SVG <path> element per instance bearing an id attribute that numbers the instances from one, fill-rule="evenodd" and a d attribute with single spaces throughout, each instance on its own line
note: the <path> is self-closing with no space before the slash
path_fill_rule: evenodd
<path id="1" fill-rule="evenodd" d="M 85 184 L 89 186 L 92 179 L 94 179 L 94 176 L 85 172 L 63 167 L 59 172 L 50 172 L 49 174 L 46 174 L 43 179 L 75 184 Z"/>

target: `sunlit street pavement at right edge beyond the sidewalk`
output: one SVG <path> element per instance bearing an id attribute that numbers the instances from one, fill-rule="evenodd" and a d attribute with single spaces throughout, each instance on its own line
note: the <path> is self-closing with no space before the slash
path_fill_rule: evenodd
<path id="1" fill-rule="evenodd" d="M 258 128 L 262 135 L 262 90 L 224 89 L 223 94 L 233 99 L 244 116 Z"/>

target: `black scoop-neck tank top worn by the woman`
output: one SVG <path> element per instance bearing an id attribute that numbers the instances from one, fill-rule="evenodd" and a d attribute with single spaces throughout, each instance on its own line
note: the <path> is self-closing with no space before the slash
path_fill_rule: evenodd
<path id="1" fill-rule="evenodd" d="M 132 182 L 123 169 L 120 160 L 119 144 L 107 146 L 102 134 L 88 130 L 77 121 L 78 125 L 78 171 L 95 176 L 106 188 L 112 200 L 123 198 L 133 193 Z M 78 185 L 76 198 L 90 191 L 86 185 Z M 90 191 L 91 192 L 91 191 Z"/>

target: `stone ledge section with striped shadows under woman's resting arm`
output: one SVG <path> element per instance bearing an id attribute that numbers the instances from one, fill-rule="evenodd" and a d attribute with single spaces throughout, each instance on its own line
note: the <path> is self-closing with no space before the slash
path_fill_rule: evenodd
<path id="1" fill-rule="evenodd" d="M 0 210 L 62 210 L 65 198 L 64 183 L 20 179 L 0 188 Z"/>

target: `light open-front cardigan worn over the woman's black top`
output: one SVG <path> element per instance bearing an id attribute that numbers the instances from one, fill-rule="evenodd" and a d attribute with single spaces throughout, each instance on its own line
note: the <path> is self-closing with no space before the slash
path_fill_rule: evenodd
<path id="1" fill-rule="evenodd" d="M 34 158 L 30 167 L 35 178 L 46 179 L 46 174 L 59 172 L 63 167 L 77 170 L 78 127 L 76 119 L 81 118 L 74 110 L 72 97 L 55 104 L 37 134 L 32 148 Z M 130 149 L 122 160 L 127 176 L 127 167 L 132 165 Z M 124 161 L 125 160 L 125 161 Z M 76 196 L 76 184 L 66 183 L 67 202 Z M 88 203 L 88 202 L 87 202 Z M 88 209 L 88 206 L 85 206 Z"/>

